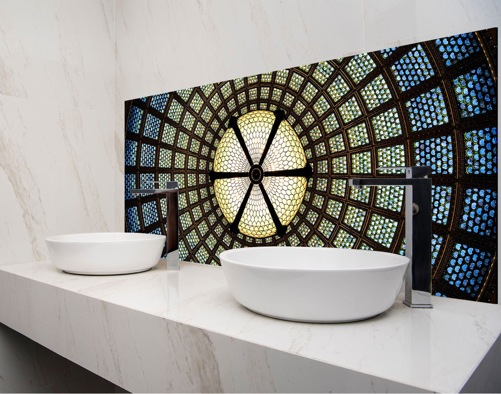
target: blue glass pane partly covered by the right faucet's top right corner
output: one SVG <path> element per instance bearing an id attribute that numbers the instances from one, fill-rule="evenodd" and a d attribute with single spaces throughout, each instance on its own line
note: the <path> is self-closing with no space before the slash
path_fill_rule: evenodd
<path id="1" fill-rule="evenodd" d="M 432 174 L 452 174 L 452 137 L 438 137 L 414 143 L 416 165 L 430 166 Z"/>

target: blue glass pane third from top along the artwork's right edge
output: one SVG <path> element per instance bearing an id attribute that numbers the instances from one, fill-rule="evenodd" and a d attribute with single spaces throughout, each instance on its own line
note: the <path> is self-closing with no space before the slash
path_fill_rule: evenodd
<path id="1" fill-rule="evenodd" d="M 464 133 L 466 174 L 497 173 L 497 127 Z"/>

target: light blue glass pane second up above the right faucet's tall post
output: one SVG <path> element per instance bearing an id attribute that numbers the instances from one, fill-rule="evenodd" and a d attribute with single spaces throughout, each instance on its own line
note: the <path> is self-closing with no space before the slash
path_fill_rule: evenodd
<path id="1" fill-rule="evenodd" d="M 405 103 L 412 131 L 420 131 L 449 121 L 440 87 Z"/>

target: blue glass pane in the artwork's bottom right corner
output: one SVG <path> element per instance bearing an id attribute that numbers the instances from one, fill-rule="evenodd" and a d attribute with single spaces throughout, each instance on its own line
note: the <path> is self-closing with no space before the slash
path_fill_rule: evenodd
<path id="1" fill-rule="evenodd" d="M 490 253 L 470 245 L 456 243 L 443 279 L 463 291 L 465 295 L 474 298 L 485 282 L 491 263 Z"/>

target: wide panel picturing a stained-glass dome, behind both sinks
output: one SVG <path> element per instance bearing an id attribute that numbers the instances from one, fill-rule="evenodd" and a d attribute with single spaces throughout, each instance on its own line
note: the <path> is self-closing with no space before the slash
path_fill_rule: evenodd
<path id="1" fill-rule="evenodd" d="M 404 254 L 403 187 L 348 187 L 432 168 L 432 292 L 497 302 L 497 31 L 334 59 L 125 103 L 125 231 L 165 233 L 179 182 L 179 256 L 247 246 Z"/>

